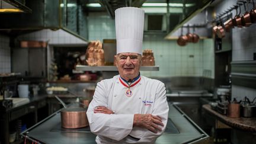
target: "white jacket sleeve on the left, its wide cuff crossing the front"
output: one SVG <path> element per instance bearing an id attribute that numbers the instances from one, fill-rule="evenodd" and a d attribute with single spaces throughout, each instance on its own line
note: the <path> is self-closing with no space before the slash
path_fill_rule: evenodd
<path id="1" fill-rule="evenodd" d="M 129 135 L 133 128 L 133 114 L 94 113 L 94 108 L 97 106 L 109 108 L 107 104 L 109 91 L 110 88 L 107 88 L 105 82 L 101 81 L 97 84 L 94 97 L 87 110 L 89 126 L 91 132 L 96 135 L 121 140 Z"/>

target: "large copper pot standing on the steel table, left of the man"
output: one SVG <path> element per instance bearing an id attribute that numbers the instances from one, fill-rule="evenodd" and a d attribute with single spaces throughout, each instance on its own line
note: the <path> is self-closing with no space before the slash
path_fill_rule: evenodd
<path id="1" fill-rule="evenodd" d="M 60 111 L 62 127 L 66 129 L 78 129 L 89 125 L 86 108 L 70 107 Z"/>

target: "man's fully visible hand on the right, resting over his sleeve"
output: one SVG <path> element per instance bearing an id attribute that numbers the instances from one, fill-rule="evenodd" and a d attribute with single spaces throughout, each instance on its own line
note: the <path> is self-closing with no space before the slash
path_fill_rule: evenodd
<path id="1" fill-rule="evenodd" d="M 158 131 L 162 131 L 159 126 L 164 126 L 164 123 L 162 123 L 160 117 L 153 116 L 152 114 L 135 114 L 133 126 L 142 127 L 153 133 L 157 133 Z"/>

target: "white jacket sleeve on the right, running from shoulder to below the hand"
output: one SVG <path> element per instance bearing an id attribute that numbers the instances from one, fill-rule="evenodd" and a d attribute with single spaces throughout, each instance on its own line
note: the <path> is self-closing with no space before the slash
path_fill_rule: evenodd
<path id="1" fill-rule="evenodd" d="M 152 115 L 161 117 L 162 123 L 164 123 L 164 127 L 162 127 L 162 131 L 158 131 L 158 133 L 145 130 L 144 135 L 138 142 L 151 143 L 152 141 L 155 141 L 157 137 L 161 136 L 167 126 L 168 112 L 169 106 L 166 97 L 165 85 L 160 82 L 156 88 L 155 105 L 153 107 Z"/>

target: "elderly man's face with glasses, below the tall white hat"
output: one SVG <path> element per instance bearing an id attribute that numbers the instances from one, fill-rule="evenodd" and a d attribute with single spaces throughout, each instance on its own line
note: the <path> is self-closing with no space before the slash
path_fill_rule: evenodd
<path id="1" fill-rule="evenodd" d="M 119 53 L 114 56 L 119 74 L 126 81 L 132 80 L 139 75 L 142 64 L 142 56 L 137 53 Z"/>

